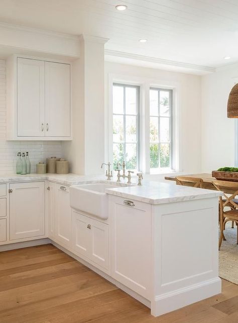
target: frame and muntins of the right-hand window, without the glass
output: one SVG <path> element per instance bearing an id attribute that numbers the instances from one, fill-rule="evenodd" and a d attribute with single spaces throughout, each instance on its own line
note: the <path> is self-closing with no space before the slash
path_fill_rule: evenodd
<path id="1" fill-rule="evenodd" d="M 153 116 L 150 113 L 150 90 L 156 90 L 158 91 L 158 116 Z M 160 92 L 161 91 L 166 91 L 169 92 L 169 111 L 170 114 L 168 117 L 161 117 L 160 115 Z M 152 86 L 150 85 L 149 87 L 149 172 L 150 174 L 158 174 L 161 173 L 163 170 L 172 170 L 172 165 L 173 165 L 173 125 L 174 125 L 174 120 L 173 120 L 173 89 L 172 88 L 166 88 L 166 87 L 160 87 L 160 86 Z M 157 168 L 151 168 L 150 162 L 150 145 L 153 144 L 153 142 L 150 141 L 150 118 L 151 117 L 156 117 L 158 118 L 158 142 L 155 142 L 159 146 L 158 149 L 158 162 L 159 166 L 161 163 L 160 160 L 160 145 L 161 144 L 169 144 L 169 152 L 170 152 L 170 158 L 169 158 L 169 166 L 168 167 L 157 167 Z M 160 118 L 169 118 L 169 142 L 161 142 L 160 138 Z"/>

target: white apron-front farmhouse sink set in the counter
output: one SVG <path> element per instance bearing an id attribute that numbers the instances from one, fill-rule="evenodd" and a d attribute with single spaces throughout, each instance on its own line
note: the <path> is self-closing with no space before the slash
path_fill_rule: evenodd
<path id="1" fill-rule="evenodd" d="M 125 185 L 94 183 L 70 186 L 70 206 L 105 220 L 108 218 L 108 196 L 105 190 L 118 186 Z"/>

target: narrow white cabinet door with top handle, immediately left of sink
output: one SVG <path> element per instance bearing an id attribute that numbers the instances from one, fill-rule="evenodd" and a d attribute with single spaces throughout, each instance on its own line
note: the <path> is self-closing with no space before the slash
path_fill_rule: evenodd
<path id="1" fill-rule="evenodd" d="M 55 212 L 56 239 L 63 246 L 71 247 L 72 220 L 68 186 L 55 186 Z"/>

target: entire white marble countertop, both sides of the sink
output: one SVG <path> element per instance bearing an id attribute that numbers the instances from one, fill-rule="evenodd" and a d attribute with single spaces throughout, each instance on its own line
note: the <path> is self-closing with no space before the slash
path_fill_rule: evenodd
<path id="1" fill-rule="evenodd" d="M 24 182 L 35 180 L 49 180 L 63 185 L 78 185 L 87 183 L 116 183 L 116 177 L 111 181 L 107 181 L 105 175 L 77 175 L 77 174 L 27 174 L 27 175 L 0 175 L 0 183 L 6 182 Z M 126 184 L 127 180 L 122 180 L 122 184 Z M 186 201 L 193 199 L 202 199 L 209 197 L 221 196 L 222 193 L 203 188 L 194 188 L 189 186 L 175 185 L 174 183 L 163 183 L 156 181 L 143 181 L 143 185 L 131 185 L 106 189 L 106 193 L 110 195 L 130 198 L 150 204 L 162 204 L 178 201 Z"/>

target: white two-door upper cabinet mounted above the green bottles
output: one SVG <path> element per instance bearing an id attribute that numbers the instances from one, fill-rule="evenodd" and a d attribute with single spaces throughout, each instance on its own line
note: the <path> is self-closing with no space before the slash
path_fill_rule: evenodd
<path id="1" fill-rule="evenodd" d="M 9 140 L 72 140 L 70 64 L 7 61 Z"/>

